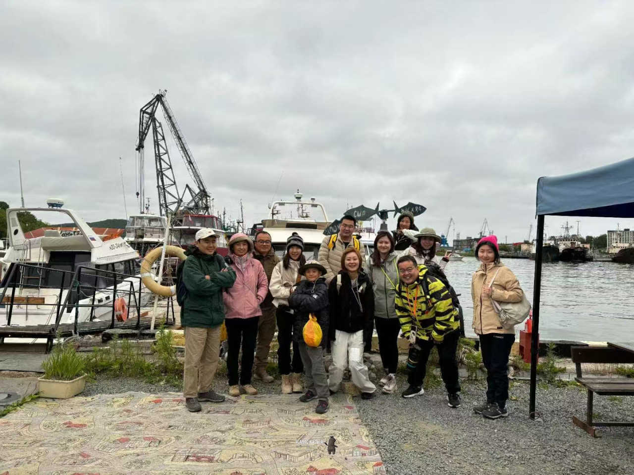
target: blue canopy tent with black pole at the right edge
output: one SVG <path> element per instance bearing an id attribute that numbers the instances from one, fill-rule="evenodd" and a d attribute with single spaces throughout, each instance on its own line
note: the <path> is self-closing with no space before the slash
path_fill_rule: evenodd
<path id="1" fill-rule="evenodd" d="M 535 417 L 538 334 L 540 329 L 541 257 L 544 217 L 597 216 L 634 218 L 634 158 L 585 172 L 541 177 L 537 181 L 537 246 L 533 290 L 530 417 Z"/>

